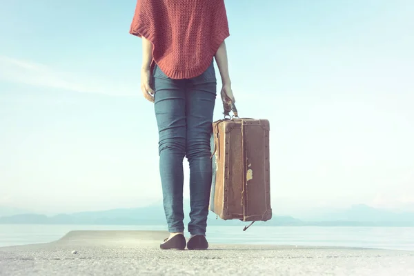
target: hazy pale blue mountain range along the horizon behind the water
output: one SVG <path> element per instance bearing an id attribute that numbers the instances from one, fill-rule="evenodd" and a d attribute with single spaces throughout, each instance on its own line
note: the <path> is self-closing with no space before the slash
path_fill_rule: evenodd
<path id="1" fill-rule="evenodd" d="M 188 214 L 188 204 L 184 204 Z M 210 212 L 210 226 L 245 226 L 249 222 L 238 219 L 216 219 Z M 186 216 L 185 224 L 188 224 Z M 0 217 L 0 224 L 95 224 L 95 225 L 165 225 L 164 208 L 160 205 L 143 208 L 113 209 L 98 212 L 61 214 L 52 217 L 37 214 Z M 274 215 L 269 221 L 257 221 L 257 226 L 414 226 L 414 213 L 393 213 L 387 210 L 356 205 L 348 210 L 328 214 L 317 221 L 302 221 L 288 216 Z"/>

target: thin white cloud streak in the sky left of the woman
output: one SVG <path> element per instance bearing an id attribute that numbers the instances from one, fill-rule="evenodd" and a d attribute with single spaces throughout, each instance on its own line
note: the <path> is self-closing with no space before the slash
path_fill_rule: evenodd
<path id="1" fill-rule="evenodd" d="M 135 95 L 138 87 L 108 81 L 102 77 L 84 77 L 62 72 L 41 63 L 23 61 L 11 57 L 0 56 L 0 79 L 14 83 L 25 83 L 31 86 L 43 86 L 74 92 L 99 93 L 106 95 Z"/>

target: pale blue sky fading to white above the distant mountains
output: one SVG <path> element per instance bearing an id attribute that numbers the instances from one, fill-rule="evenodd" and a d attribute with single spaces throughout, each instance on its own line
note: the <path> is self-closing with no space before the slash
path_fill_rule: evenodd
<path id="1" fill-rule="evenodd" d="M 0 205 L 59 213 L 161 199 L 141 40 L 128 34 L 135 3 L 2 3 Z M 414 2 L 226 7 L 237 108 L 270 120 L 275 213 L 413 210 Z"/>

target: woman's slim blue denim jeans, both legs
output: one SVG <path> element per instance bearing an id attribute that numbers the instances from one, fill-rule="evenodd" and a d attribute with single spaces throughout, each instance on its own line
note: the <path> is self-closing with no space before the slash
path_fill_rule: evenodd
<path id="1" fill-rule="evenodd" d="M 191 235 L 205 235 L 213 174 L 210 151 L 217 80 L 213 62 L 193 79 L 170 79 L 158 66 L 152 73 L 159 131 L 159 172 L 170 233 L 184 232 L 184 157 L 190 164 Z"/>

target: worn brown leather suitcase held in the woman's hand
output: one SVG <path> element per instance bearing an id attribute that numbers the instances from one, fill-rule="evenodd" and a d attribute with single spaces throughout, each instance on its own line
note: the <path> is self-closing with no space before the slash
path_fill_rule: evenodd
<path id="1" fill-rule="evenodd" d="M 239 118 L 234 105 L 232 110 L 230 117 L 224 106 L 225 119 L 213 122 L 210 210 L 225 220 L 267 221 L 272 217 L 270 124 L 267 119 Z"/>

